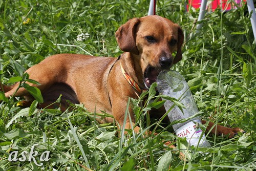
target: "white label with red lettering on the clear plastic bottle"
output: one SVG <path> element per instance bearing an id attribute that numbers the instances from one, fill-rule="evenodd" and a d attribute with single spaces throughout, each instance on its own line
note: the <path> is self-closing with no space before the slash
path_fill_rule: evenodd
<path id="1" fill-rule="evenodd" d="M 194 121 L 196 123 L 196 121 Z M 181 126 L 178 130 L 175 131 L 178 137 L 186 137 L 186 140 L 190 145 L 198 145 L 205 142 L 205 135 L 203 134 L 200 143 L 199 138 L 203 130 L 197 126 L 194 122 L 188 122 L 187 124 Z"/>

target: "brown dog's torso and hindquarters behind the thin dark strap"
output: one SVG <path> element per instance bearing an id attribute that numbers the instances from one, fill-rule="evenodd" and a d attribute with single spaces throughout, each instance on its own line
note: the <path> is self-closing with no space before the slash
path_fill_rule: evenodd
<path id="1" fill-rule="evenodd" d="M 62 104 L 66 104 L 66 100 L 73 103 L 83 102 L 92 108 L 90 111 L 94 111 L 96 106 L 97 111 L 100 111 L 106 107 L 102 102 L 108 101 L 106 82 L 111 64 L 115 60 L 117 58 L 80 54 L 53 55 L 26 71 L 29 78 L 38 81 L 40 85 L 27 83 L 41 90 L 47 105 L 56 101 L 61 94 Z M 12 86 L 1 86 L 6 97 L 15 93 L 18 84 L 19 82 Z M 14 96 L 25 96 L 27 101 L 33 100 L 24 88 L 19 88 Z"/>

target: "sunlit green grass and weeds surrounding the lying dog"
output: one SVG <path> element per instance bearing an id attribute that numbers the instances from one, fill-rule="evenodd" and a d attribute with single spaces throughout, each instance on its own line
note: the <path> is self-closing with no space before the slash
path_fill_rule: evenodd
<path id="1" fill-rule="evenodd" d="M 149 1 L 1 1 L 0 0 L 0 81 L 31 81 L 24 71 L 46 57 L 58 53 L 94 56 L 121 54 L 114 33 L 128 19 L 147 15 Z M 256 50 L 245 4 L 223 13 L 207 13 L 203 28 L 196 31 L 199 11 L 185 1 L 162 0 L 157 15 L 178 23 L 185 34 L 183 60 L 174 70 L 189 83 L 202 118 L 228 127 L 241 127 L 246 134 L 228 139 L 207 135 L 209 148 L 189 147 L 159 120 L 146 124 L 144 116 L 152 108 L 135 104 L 137 124 L 158 136 L 118 134 L 115 124 L 98 124 L 106 113 L 87 112 L 73 105 L 72 112 L 58 109 L 22 109 L 22 98 L 7 99 L 0 92 L 0 170 L 253 170 L 256 165 Z M 50 65 L 50 64 L 49 64 Z M 83 81 L 83 80 L 81 80 Z M 23 84 L 22 86 L 25 86 Z M 33 88 L 27 88 L 35 91 Z M 154 91 L 147 92 L 155 96 Z M 34 95 L 40 101 L 38 92 Z M 141 100 L 141 99 L 140 99 Z M 172 141 L 176 149 L 163 145 Z M 40 155 L 50 152 L 50 160 L 9 161 L 13 151 L 25 159 L 32 146 Z M 181 160 L 179 151 L 186 153 Z M 13 157 L 13 156 L 12 156 Z"/>

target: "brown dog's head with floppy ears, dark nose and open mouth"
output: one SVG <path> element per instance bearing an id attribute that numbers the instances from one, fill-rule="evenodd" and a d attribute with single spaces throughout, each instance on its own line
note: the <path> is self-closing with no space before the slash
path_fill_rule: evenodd
<path id="1" fill-rule="evenodd" d="M 157 15 L 130 19 L 117 30 L 116 39 L 120 49 L 130 52 L 135 62 L 139 62 L 146 88 L 156 81 L 161 70 L 169 69 L 182 59 L 181 28 Z"/>

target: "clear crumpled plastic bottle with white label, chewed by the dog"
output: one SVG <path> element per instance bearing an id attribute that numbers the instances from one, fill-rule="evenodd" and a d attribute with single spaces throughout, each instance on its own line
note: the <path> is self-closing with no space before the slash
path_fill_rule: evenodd
<path id="1" fill-rule="evenodd" d="M 157 90 L 163 95 L 176 98 L 185 106 L 185 109 L 183 109 L 182 112 L 174 102 L 170 100 L 165 101 L 164 107 L 166 111 L 175 105 L 167 114 L 170 122 L 188 118 L 199 112 L 188 84 L 179 72 L 172 70 L 160 72 L 157 77 Z M 174 124 L 173 128 L 176 135 L 178 137 L 186 137 L 186 140 L 190 145 L 199 145 L 201 147 L 210 146 L 209 142 L 205 139 L 205 135 L 202 135 L 203 131 L 198 124 L 202 124 L 201 118 L 194 117 L 183 123 Z"/>

